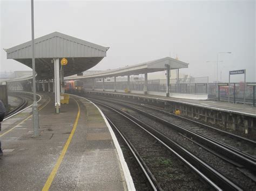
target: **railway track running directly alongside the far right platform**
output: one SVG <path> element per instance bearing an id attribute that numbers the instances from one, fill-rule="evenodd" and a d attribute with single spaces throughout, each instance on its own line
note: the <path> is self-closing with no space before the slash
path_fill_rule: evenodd
<path id="1" fill-rule="evenodd" d="M 99 99 L 102 99 L 102 97 Z M 177 119 L 173 114 L 160 109 L 126 101 L 118 102 L 117 100 L 109 98 L 107 98 L 107 100 L 112 103 L 118 103 L 126 108 L 136 110 L 139 114 L 150 117 L 166 126 L 170 126 L 182 133 L 184 137 L 190 139 L 193 143 L 199 144 L 199 146 L 218 155 L 218 157 L 239 167 L 242 172 L 244 171 L 244 167 L 250 169 L 250 171 L 256 172 L 256 142 L 253 140 L 218 131 L 208 125 L 206 126 L 185 118 Z"/>

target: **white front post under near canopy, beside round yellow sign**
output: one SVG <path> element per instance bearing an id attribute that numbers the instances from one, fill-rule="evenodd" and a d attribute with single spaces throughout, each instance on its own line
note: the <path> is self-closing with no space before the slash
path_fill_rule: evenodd
<path id="1" fill-rule="evenodd" d="M 54 85 L 55 85 L 55 108 L 59 113 L 60 108 L 60 84 L 59 84 L 59 59 L 54 59 Z"/>

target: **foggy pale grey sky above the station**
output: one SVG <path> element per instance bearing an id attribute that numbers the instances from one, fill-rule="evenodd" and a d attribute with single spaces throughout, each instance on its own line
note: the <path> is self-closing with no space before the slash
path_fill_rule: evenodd
<path id="1" fill-rule="evenodd" d="M 194 77 L 228 81 L 228 70 L 246 69 L 256 81 L 255 1 L 83 2 L 36 1 L 35 38 L 55 31 L 110 47 L 92 69 L 134 65 L 169 56 L 188 62 Z M 3 48 L 31 40 L 30 1 L 1 1 L 1 71 L 28 70 L 7 60 Z M 233 78 L 242 81 L 243 76 Z"/>

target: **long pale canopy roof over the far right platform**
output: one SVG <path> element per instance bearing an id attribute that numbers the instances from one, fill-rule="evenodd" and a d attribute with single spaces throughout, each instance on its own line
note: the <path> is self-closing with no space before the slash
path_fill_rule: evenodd
<path id="1" fill-rule="evenodd" d="M 188 63 L 185 63 L 170 57 L 166 57 L 158 60 L 139 63 L 138 65 L 106 70 L 93 75 L 69 76 L 69 77 L 65 77 L 65 80 L 95 79 L 95 78 L 102 78 L 102 77 L 138 75 L 138 74 L 144 74 L 144 73 L 159 72 L 159 71 L 166 70 L 166 65 L 169 65 L 170 69 L 188 67 Z"/>

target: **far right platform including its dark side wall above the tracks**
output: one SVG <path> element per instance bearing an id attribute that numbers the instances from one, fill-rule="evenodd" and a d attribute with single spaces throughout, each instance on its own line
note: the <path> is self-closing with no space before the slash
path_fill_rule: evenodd
<path id="1" fill-rule="evenodd" d="M 86 90 L 87 95 L 102 95 L 120 97 L 127 100 L 161 105 L 170 112 L 180 110 L 181 116 L 197 119 L 225 131 L 239 135 L 256 135 L 256 107 L 240 103 L 218 102 L 214 100 L 188 100 L 158 95 L 144 95 L 134 93 L 120 93 L 113 91 Z"/>

